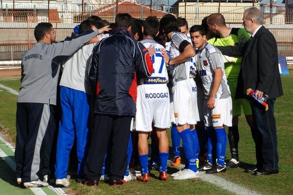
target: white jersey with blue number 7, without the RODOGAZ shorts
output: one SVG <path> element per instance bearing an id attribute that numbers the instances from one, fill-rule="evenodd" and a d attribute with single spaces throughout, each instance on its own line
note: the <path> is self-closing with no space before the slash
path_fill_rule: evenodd
<path id="1" fill-rule="evenodd" d="M 166 63 L 161 55 L 162 45 L 157 43 L 154 39 L 144 39 L 141 43 L 148 48 L 150 45 L 155 47 L 156 53 L 152 56 L 153 73 L 149 78 L 141 79 L 138 81 L 138 85 L 142 84 L 166 84 L 168 82 L 168 73 Z"/>

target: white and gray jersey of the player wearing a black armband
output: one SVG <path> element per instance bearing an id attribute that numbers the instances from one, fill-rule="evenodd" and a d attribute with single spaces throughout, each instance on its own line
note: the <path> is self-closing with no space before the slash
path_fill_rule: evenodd
<path id="1" fill-rule="evenodd" d="M 171 45 L 170 45 L 170 55 L 171 59 L 176 58 L 181 53 L 179 52 L 179 46 L 182 41 L 187 40 L 190 42 L 190 39 L 183 33 L 174 32 L 171 36 Z M 186 80 L 189 78 L 195 78 L 196 75 L 196 64 L 195 57 L 192 57 L 181 64 L 172 65 L 173 69 L 173 84 L 178 81 Z"/>

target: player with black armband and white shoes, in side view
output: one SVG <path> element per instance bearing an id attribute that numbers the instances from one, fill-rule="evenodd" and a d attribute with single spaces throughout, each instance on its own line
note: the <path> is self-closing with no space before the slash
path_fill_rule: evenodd
<path id="1" fill-rule="evenodd" d="M 195 129 L 194 125 L 198 118 L 197 101 L 196 101 L 196 84 L 194 77 L 196 74 L 195 51 L 190 44 L 188 37 L 183 33 L 177 32 L 177 20 L 171 15 L 163 16 L 160 21 L 161 28 L 171 41 L 169 59 L 166 50 L 162 50 L 162 55 L 167 65 L 173 69 L 173 106 L 175 123 L 177 131 L 183 141 L 183 148 L 187 157 L 188 169 L 172 174 L 174 179 L 192 179 L 198 178 L 197 170 L 197 135 L 190 130 Z"/>

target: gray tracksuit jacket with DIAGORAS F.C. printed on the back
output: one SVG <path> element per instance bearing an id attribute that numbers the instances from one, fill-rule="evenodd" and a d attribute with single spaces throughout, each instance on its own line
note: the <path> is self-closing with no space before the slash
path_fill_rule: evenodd
<path id="1" fill-rule="evenodd" d="M 61 62 L 98 34 L 90 30 L 71 40 L 52 44 L 38 42 L 26 51 L 21 60 L 21 89 L 17 102 L 56 105 Z"/>

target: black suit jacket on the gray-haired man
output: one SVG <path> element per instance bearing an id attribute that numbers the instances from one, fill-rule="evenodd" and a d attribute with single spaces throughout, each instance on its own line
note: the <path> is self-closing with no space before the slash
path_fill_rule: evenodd
<path id="1" fill-rule="evenodd" d="M 224 55 L 242 57 L 235 98 L 245 98 L 249 88 L 264 92 L 269 99 L 283 95 L 276 40 L 264 26 L 243 46 L 218 48 Z"/>

